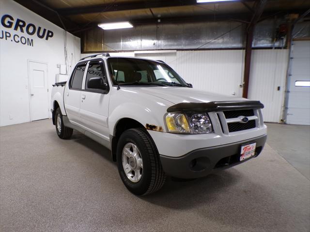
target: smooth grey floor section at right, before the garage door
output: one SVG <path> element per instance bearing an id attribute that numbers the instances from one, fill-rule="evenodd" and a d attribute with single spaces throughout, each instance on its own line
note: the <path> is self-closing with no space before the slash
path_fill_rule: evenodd
<path id="1" fill-rule="evenodd" d="M 310 126 L 266 123 L 267 143 L 310 179 Z"/>

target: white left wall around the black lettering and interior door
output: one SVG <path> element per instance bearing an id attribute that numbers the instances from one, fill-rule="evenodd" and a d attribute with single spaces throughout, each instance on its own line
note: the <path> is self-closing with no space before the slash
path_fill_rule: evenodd
<path id="1" fill-rule="evenodd" d="M 28 60 L 47 63 L 48 88 L 51 93 L 56 74 L 59 73 L 57 64 L 66 64 L 70 73 L 80 58 L 80 39 L 66 33 L 60 27 L 52 24 L 43 17 L 34 14 L 13 0 L 0 0 L 0 17 L 9 14 L 16 19 L 22 19 L 27 24 L 32 23 L 37 28 L 53 31 L 52 38 L 40 39 L 36 34 L 29 35 L 13 28 L 0 25 L 1 32 L 9 32 L 12 37 L 17 34 L 32 39 L 33 44 L 15 43 L 13 38 L 0 39 L 0 126 L 30 121 L 30 100 L 28 81 Z M 56 15 L 55 15 L 56 17 Z M 66 36 L 67 62 L 65 61 L 64 42 Z M 12 41 L 11 41 L 12 40 Z M 50 102 L 50 95 L 49 95 Z M 12 119 L 9 119 L 9 115 Z M 50 114 L 51 116 L 51 114 Z"/>

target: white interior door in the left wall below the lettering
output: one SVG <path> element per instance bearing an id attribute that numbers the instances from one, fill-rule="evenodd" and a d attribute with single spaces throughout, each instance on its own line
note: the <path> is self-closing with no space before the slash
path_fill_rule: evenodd
<path id="1" fill-rule="evenodd" d="M 29 61 L 30 119 L 48 118 L 47 64 Z"/>

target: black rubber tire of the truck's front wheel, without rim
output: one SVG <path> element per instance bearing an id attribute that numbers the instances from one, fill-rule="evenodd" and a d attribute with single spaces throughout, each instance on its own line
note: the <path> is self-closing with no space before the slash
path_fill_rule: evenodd
<path id="1" fill-rule="evenodd" d="M 124 172 L 123 149 L 128 143 L 136 145 L 143 160 L 143 172 L 138 182 L 132 182 Z M 147 131 L 142 128 L 124 131 L 117 144 L 117 166 L 121 179 L 135 195 L 147 195 L 159 190 L 165 183 L 157 148 Z"/>

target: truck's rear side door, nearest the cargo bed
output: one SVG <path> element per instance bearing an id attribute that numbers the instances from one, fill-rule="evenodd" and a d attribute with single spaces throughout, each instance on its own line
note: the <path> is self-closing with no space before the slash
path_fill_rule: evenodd
<path id="1" fill-rule="evenodd" d="M 67 116 L 73 124 L 80 125 L 80 102 L 83 76 L 85 73 L 87 62 L 79 63 L 72 72 L 69 83 L 64 90 L 64 107 Z"/>

